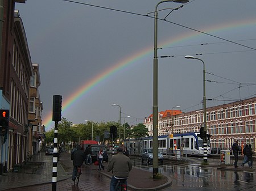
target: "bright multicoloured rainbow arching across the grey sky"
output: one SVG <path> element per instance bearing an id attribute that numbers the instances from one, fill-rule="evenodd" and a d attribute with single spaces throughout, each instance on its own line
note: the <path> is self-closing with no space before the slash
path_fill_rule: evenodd
<path id="1" fill-rule="evenodd" d="M 234 30 L 236 28 L 242 28 L 242 27 L 250 27 L 255 26 L 256 19 L 247 19 L 247 20 L 240 20 L 233 23 L 222 23 L 218 24 L 217 26 L 210 26 L 209 28 L 205 29 L 199 29 L 200 31 L 204 31 L 206 33 L 216 33 L 216 32 L 224 32 L 224 31 L 230 31 Z M 182 41 L 186 41 L 188 39 L 192 39 L 195 37 L 199 37 L 203 35 L 199 32 L 186 32 L 176 37 L 171 37 L 168 40 L 165 40 L 164 43 L 159 43 L 159 47 L 166 47 L 166 46 L 173 46 L 177 43 L 181 43 Z M 109 78 L 114 73 L 117 73 L 118 71 L 126 69 L 127 66 L 133 64 L 136 61 L 141 60 L 142 58 L 152 54 L 153 48 L 147 47 L 135 54 L 132 54 L 129 57 L 124 58 L 122 61 L 119 61 L 115 63 L 112 67 L 110 67 L 107 70 L 104 70 L 102 73 L 96 75 L 94 78 L 92 78 L 89 82 L 86 82 L 82 87 L 79 87 L 77 91 L 73 92 L 73 94 L 69 95 L 67 99 L 63 99 L 63 105 L 62 105 L 62 112 L 65 112 L 65 110 L 73 103 L 75 103 L 79 98 L 82 96 L 85 96 L 86 93 L 88 93 L 90 90 L 93 89 L 97 84 L 100 84 L 105 79 Z M 46 129 L 49 129 L 50 126 L 53 126 L 52 121 L 52 112 L 49 112 L 45 118 L 43 118 L 43 124 L 46 126 Z"/>

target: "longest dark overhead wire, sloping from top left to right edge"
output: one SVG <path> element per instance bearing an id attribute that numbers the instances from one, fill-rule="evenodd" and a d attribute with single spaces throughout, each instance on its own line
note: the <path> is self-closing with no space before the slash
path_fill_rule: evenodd
<path id="1" fill-rule="evenodd" d="M 124 13 L 127 13 L 127 14 L 133 14 L 133 15 L 138 15 L 138 16 L 147 16 L 147 17 L 149 17 L 149 18 L 155 19 L 154 16 L 143 15 L 143 14 L 139 14 L 139 13 L 135 13 L 135 12 L 130 12 L 130 11 L 123 11 L 123 10 L 118 10 L 118 9 L 112 9 L 112 8 L 109 8 L 109 7 L 102 7 L 102 6 L 97 6 L 97 5 L 91 5 L 91 4 L 89 4 L 89 3 L 82 3 L 82 2 L 71 1 L 71 0 L 61 0 L 61 1 L 66 1 L 66 2 L 71 2 L 71 3 L 77 3 L 77 4 L 80 4 L 80 5 L 86 5 L 86 6 L 92 6 L 92 7 L 97 7 L 97 8 L 100 8 L 100 9 L 106 9 L 106 10 L 111 10 L 111 11 L 124 12 Z M 221 40 L 224 40 L 224 41 L 228 41 L 229 43 L 237 44 L 237 45 L 243 46 L 243 47 L 245 47 L 245 48 L 249 48 L 249 49 L 252 49 L 252 50 L 256 50 L 255 48 L 252 48 L 252 47 L 250 47 L 250 46 L 246 46 L 246 45 L 243 45 L 243 44 L 240 44 L 240 43 L 236 43 L 235 41 L 231 41 L 231 40 L 228 40 L 228 39 L 224 39 L 224 38 L 218 37 L 218 36 L 216 36 L 216 35 L 211 35 L 210 33 L 203 32 L 203 31 L 199 31 L 198 29 L 194 29 L 194 28 L 191 28 L 191 27 L 187 27 L 187 26 L 184 26 L 183 24 L 174 23 L 174 22 L 171 22 L 171 21 L 168 21 L 168 20 L 165 20 L 165 19 L 160 19 L 160 18 L 158 18 L 158 20 L 163 20 L 163 21 L 165 21 L 165 22 L 174 24 L 174 25 L 176 25 L 176 26 L 180 26 L 180 27 L 183 27 L 183 28 L 187 28 L 187 29 L 190 29 L 190 30 L 192 30 L 192 31 L 196 31 L 196 32 L 199 32 L 199 33 L 203 33 L 204 35 L 208 35 L 208 36 L 215 37 L 215 38 L 217 38 L 217 39 L 221 39 Z"/>

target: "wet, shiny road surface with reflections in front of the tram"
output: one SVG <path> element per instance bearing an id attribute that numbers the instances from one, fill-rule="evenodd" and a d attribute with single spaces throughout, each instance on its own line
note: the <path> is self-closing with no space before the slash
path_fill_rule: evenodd
<path id="1" fill-rule="evenodd" d="M 152 165 L 133 160 L 134 166 L 152 171 Z M 159 172 L 171 177 L 169 190 L 256 190 L 256 173 L 220 170 L 217 167 L 159 164 Z"/>

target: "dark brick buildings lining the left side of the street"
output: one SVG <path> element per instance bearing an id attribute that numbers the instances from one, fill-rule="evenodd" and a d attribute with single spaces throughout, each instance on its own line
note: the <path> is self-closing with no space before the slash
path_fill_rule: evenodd
<path id="1" fill-rule="evenodd" d="M 0 133 L 0 174 L 3 174 L 16 164 L 23 164 L 28 155 L 37 151 L 32 142 L 38 136 L 33 130 L 35 124 L 42 124 L 40 112 L 43 107 L 38 96 L 38 65 L 32 66 L 23 22 L 19 11 L 15 10 L 15 3 L 26 3 L 26 0 L 3 0 L 1 3 L 3 15 L 0 14 L 0 20 L 4 22 L 0 22 L 0 108 L 9 110 L 9 129 L 5 135 Z M 36 91 L 30 84 L 35 71 L 38 71 Z M 28 116 L 30 91 L 31 97 L 36 94 L 36 116 Z"/>

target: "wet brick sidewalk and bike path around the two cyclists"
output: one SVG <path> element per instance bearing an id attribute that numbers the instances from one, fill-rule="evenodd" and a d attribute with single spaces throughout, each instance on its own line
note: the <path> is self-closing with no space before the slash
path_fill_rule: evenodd
<path id="1" fill-rule="evenodd" d="M 52 190 L 52 156 L 46 156 L 43 152 L 34 156 L 33 162 L 42 162 L 40 168 L 32 173 L 26 168 L 26 173 L 9 172 L 7 175 L 0 175 L 0 190 Z M 104 163 L 107 166 L 107 163 Z M 24 171 L 24 169 L 21 169 Z M 98 166 L 82 166 L 79 189 L 73 185 L 71 180 L 73 165 L 68 152 L 60 155 L 57 164 L 57 190 L 109 190 L 109 183 L 112 174 L 110 172 L 98 171 Z M 159 190 L 172 183 L 170 178 L 163 177 L 160 180 L 153 180 L 152 172 L 133 168 L 127 180 L 129 190 Z"/>

